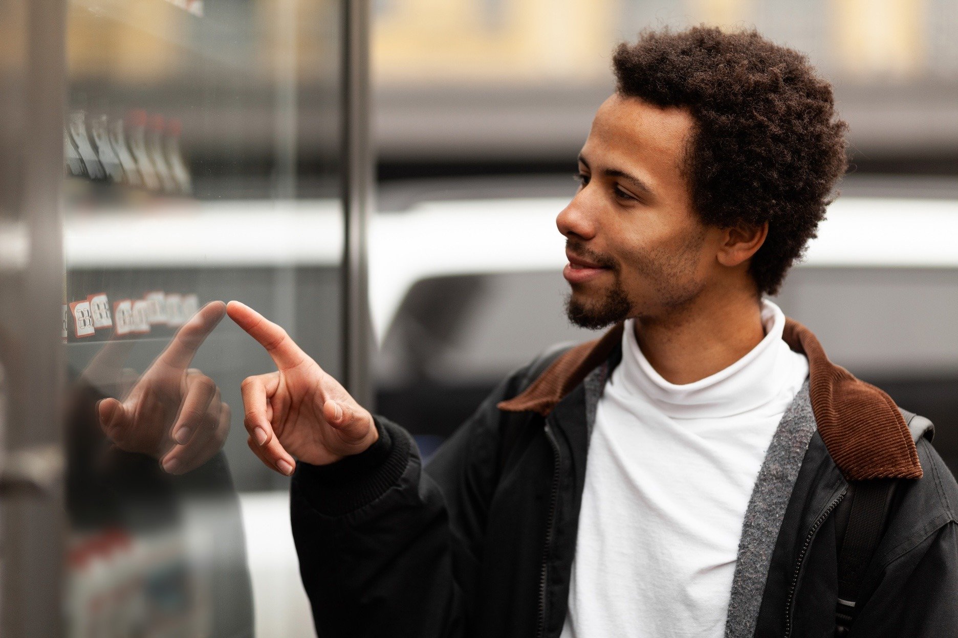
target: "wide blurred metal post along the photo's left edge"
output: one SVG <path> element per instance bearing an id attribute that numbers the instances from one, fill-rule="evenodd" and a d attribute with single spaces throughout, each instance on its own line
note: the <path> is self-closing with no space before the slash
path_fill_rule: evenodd
<path id="1" fill-rule="evenodd" d="M 63 631 L 65 0 L 3 0 L 0 74 L 0 635 Z M 8 27 L 11 25 L 8 24 Z M 6 31 L 6 30 L 4 30 Z"/>

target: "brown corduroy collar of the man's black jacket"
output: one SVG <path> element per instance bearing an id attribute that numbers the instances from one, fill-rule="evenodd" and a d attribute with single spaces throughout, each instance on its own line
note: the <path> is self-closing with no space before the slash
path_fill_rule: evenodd
<path id="1" fill-rule="evenodd" d="M 513 412 L 547 415 L 622 341 L 618 323 L 602 338 L 568 350 L 522 393 L 498 404 Z M 922 466 L 901 412 L 887 394 L 866 384 L 825 355 L 798 321 L 787 319 L 782 338 L 809 359 L 811 409 L 822 441 L 848 480 L 921 478 Z"/>

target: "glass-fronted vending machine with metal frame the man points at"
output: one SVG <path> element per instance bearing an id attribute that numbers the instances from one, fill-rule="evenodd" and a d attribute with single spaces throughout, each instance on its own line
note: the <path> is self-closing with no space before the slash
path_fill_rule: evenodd
<path id="1" fill-rule="evenodd" d="M 253 635 L 224 304 L 368 393 L 365 3 L 0 11 L 0 635 Z"/>

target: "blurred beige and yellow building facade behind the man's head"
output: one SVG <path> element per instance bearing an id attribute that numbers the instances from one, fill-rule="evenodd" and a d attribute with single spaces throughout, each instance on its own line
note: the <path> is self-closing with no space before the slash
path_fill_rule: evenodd
<path id="1" fill-rule="evenodd" d="M 951 0 L 378 0 L 375 8 L 387 177 L 403 163 L 422 165 L 411 171 L 422 175 L 450 162 L 506 171 L 568 163 L 611 89 L 615 44 L 700 23 L 755 27 L 809 55 L 833 81 L 862 169 L 958 165 Z"/>

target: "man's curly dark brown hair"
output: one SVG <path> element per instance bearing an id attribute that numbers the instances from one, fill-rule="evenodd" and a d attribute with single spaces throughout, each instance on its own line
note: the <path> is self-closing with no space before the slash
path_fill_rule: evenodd
<path id="1" fill-rule="evenodd" d="M 805 55 L 754 30 L 645 31 L 612 65 L 620 95 L 689 108 L 693 205 L 719 228 L 768 222 L 749 272 L 760 293 L 777 293 L 848 165 L 832 86 Z"/>

